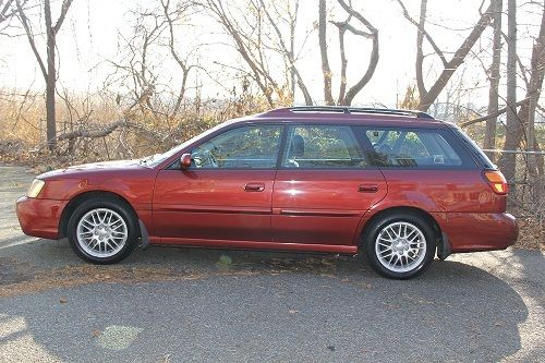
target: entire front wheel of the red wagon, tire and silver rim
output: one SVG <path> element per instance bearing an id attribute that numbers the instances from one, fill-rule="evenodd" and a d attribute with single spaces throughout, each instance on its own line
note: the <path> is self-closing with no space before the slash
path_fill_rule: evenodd
<path id="1" fill-rule="evenodd" d="M 68 223 L 70 246 L 82 259 L 97 265 L 116 264 L 137 244 L 136 217 L 124 203 L 109 198 L 83 202 Z"/>

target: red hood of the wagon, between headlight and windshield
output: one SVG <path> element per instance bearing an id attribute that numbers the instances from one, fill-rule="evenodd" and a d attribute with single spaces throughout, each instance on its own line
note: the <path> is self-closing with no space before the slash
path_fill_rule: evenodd
<path id="1" fill-rule="evenodd" d="M 76 165 L 64 169 L 57 169 L 40 174 L 39 179 L 59 179 L 82 177 L 90 173 L 98 172 L 114 172 L 114 171 L 129 171 L 147 169 L 142 166 L 138 160 L 114 160 L 114 161 L 100 161 L 92 164 Z"/>

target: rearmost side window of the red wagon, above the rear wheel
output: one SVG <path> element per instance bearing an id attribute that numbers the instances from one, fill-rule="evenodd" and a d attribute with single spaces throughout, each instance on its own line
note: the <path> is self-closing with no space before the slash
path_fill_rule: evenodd
<path id="1" fill-rule="evenodd" d="M 361 128 L 358 128 L 361 129 Z M 373 164 L 397 168 L 459 168 L 470 166 L 444 130 L 368 128 L 358 132 L 373 147 Z M 450 135 L 451 136 L 451 135 Z"/>

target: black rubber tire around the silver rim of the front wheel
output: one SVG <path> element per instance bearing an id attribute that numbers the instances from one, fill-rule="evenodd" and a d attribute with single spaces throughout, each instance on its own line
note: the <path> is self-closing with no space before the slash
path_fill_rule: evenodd
<path id="1" fill-rule="evenodd" d="M 96 208 L 111 209 L 118 213 L 126 223 L 128 238 L 125 245 L 117 254 L 109 257 L 100 258 L 92 256 L 87 252 L 85 252 L 77 242 L 77 223 L 80 219 L 87 211 Z M 121 203 L 117 203 L 116 201 L 97 198 L 97 199 L 86 201 L 82 203 L 80 206 L 77 206 L 77 208 L 74 210 L 74 213 L 69 219 L 66 234 L 70 242 L 70 246 L 75 252 L 75 254 L 80 256 L 82 259 L 98 265 L 110 265 L 124 259 L 134 250 L 134 247 L 136 246 L 137 230 L 138 229 L 136 225 L 136 217 L 129 210 L 128 207 L 125 207 Z"/>

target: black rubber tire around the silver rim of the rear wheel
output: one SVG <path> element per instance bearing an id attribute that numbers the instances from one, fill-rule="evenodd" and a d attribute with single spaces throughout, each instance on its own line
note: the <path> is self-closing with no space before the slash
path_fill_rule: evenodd
<path id="1" fill-rule="evenodd" d="M 385 266 L 383 266 L 383 264 L 378 261 L 378 257 L 376 255 L 375 243 L 378 233 L 386 226 L 393 222 L 409 222 L 411 225 L 414 225 L 422 231 L 424 238 L 426 239 L 426 255 L 424 256 L 424 259 L 410 271 L 405 273 L 391 271 Z M 424 218 L 412 213 L 397 213 L 379 217 L 378 219 L 373 221 L 373 223 L 370 226 L 364 235 L 363 247 L 365 250 L 365 257 L 371 267 L 373 267 L 375 271 L 390 279 L 404 280 L 421 275 L 429 267 L 435 257 L 435 250 L 436 250 L 435 240 L 436 240 L 436 233 L 434 232 L 434 229 L 432 228 L 429 222 L 427 222 Z"/>

